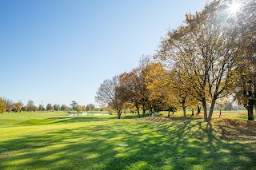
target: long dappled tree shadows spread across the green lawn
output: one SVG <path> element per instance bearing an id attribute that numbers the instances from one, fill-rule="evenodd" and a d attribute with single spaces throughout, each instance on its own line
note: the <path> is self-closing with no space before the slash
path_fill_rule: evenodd
<path id="1" fill-rule="evenodd" d="M 0 168 L 253 169 L 255 145 L 226 140 L 225 131 L 237 129 L 194 121 L 67 127 L 1 142 Z"/>

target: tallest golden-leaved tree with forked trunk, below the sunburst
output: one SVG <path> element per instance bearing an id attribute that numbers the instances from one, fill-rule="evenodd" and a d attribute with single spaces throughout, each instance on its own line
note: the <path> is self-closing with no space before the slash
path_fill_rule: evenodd
<path id="1" fill-rule="evenodd" d="M 227 18 L 226 8 L 214 1 L 202 12 L 186 14 L 186 26 L 169 31 L 158 53 L 178 74 L 186 93 L 202 102 L 204 121 L 211 120 L 216 100 L 233 87 L 241 35 L 234 19 Z"/>

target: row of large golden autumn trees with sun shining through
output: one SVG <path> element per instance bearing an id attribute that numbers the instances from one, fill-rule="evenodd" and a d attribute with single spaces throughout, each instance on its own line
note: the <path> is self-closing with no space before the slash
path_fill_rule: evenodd
<path id="1" fill-rule="evenodd" d="M 95 100 L 118 111 L 135 107 L 154 112 L 180 107 L 211 121 L 214 107 L 237 101 L 254 121 L 256 103 L 256 2 L 218 0 L 186 14 L 184 25 L 162 38 L 155 61 L 143 57 L 138 68 L 103 81 Z M 210 108 L 207 110 L 207 108 Z M 170 113 L 169 113 L 170 117 Z"/>

